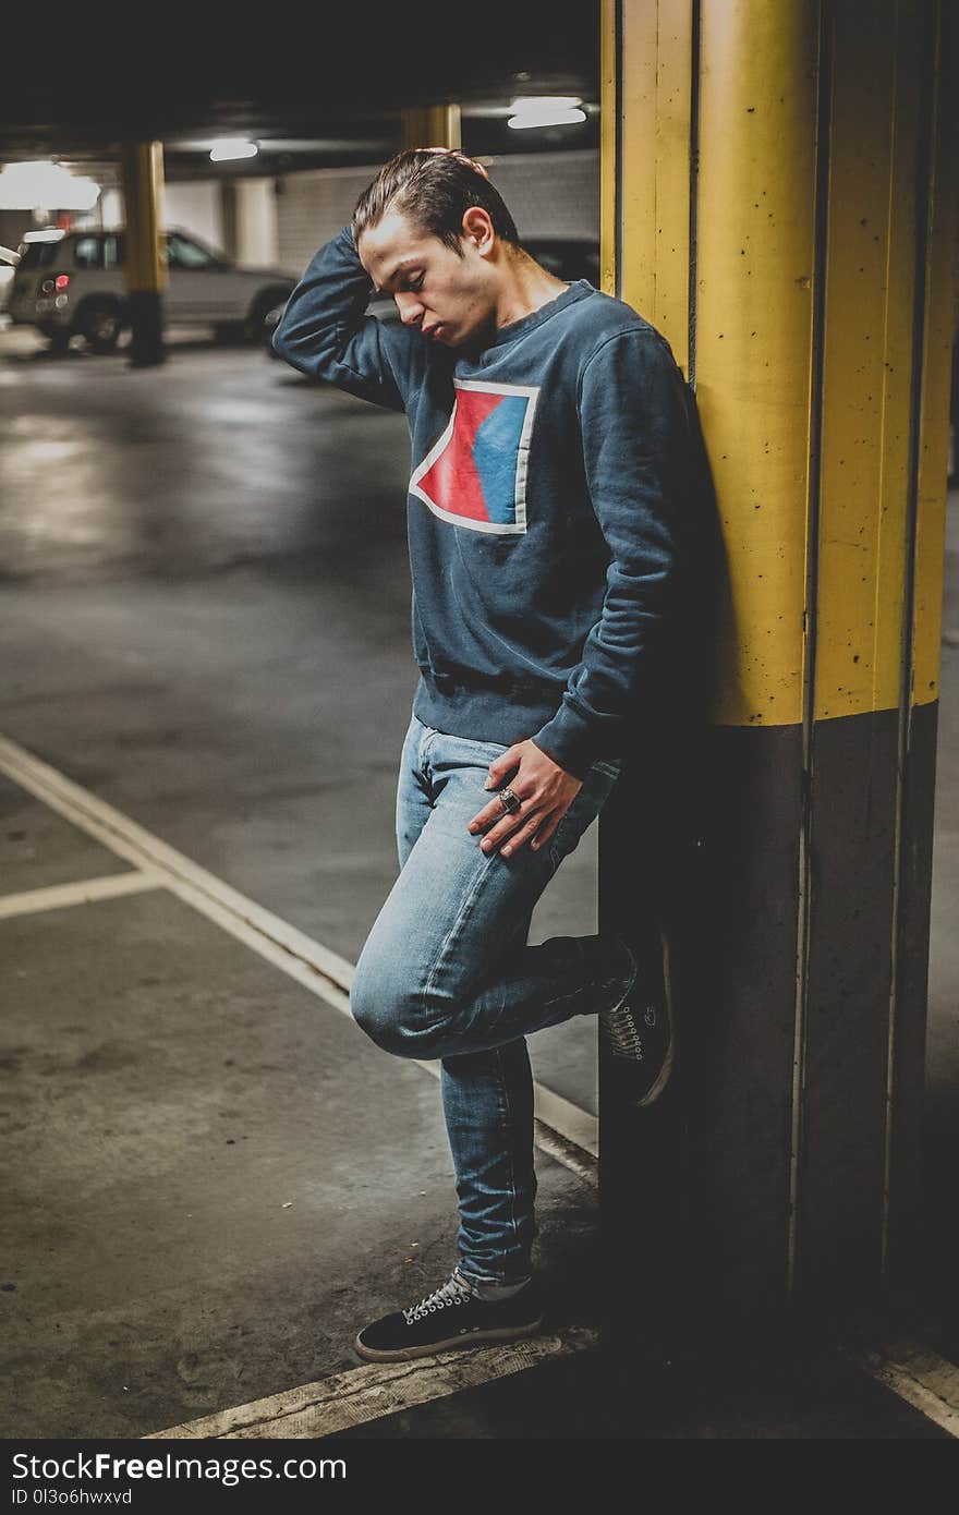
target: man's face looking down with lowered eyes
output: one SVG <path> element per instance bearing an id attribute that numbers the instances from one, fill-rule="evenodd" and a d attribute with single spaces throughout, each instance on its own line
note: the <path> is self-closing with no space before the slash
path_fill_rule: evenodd
<path id="1" fill-rule="evenodd" d="M 438 236 L 418 230 L 400 211 L 389 211 L 359 238 L 359 261 L 379 289 L 397 301 L 400 320 L 426 341 L 459 347 L 492 326 L 495 276 L 480 247 L 465 235 L 458 258 Z"/>

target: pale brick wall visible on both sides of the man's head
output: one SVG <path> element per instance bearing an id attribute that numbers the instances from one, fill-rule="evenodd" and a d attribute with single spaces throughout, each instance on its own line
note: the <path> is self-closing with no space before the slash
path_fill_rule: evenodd
<path id="1" fill-rule="evenodd" d="M 321 168 L 279 180 L 280 268 L 300 274 L 315 250 L 345 226 L 379 165 Z M 514 153 L 491 159 L 489 177 L 523 236 L 600 235 L 600 156 Z"/>

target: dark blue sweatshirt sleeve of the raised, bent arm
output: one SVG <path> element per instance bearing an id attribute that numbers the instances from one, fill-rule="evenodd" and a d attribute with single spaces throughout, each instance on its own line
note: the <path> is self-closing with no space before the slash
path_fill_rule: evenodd
<path id="1" fill-rule="evenodd" d="M 273 333 L 273 350 L 311 379 L 403 411 L 418 383 L 426 344 L 398 321 L 367 315 L 371 292 L 353 233 L 344 226 L 314 253 Z"/>

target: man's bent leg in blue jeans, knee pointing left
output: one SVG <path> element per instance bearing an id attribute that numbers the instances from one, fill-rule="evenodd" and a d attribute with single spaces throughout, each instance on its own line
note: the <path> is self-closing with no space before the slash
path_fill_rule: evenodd
<path id="1" fill-rule="evenodd" d="M 486 767 L 503 750 L 435 733 L 426 771 L 432 811 L 350 989 L 356 1021 L 397 1056 L 488 1051 L 612 1007 L 632 988 L 632 961 L 615 936 L 553 936 L 527 947 L 517 933 L 601 809 L 617 770 L 594 764 L 550 844 L 503 857 L 498 848 L 483 853 L 467 829 L 489 800 Z"/>

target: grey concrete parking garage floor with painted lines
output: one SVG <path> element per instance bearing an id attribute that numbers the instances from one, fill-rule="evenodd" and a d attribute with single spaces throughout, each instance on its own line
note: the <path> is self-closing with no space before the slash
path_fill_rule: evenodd
<path id="1" fill-rule="evenodd" d="M 130 373 L 123 353 L 55 359 L 0 332 L 0 1433 L 959 1432 L 956 1217 L 932 1201 L 900 1367 L 932 1354 L 945 1412 L 818 1348 L 638 1377 L 597 1350 L 595 1176 L 571 1156 L 595 1151 L 591 1021 L 530 1042 L 559 1133 L 538 1153 L 556 1330 L 412 1388 L 359 1365 L 358 1326 L 439 1282 L 456 1233 L 436 1080 L 373 1047 L 344 992 L 397 868 L 406 423 L 264 353 L 173 338 L 165 367 Z M 948 562 L 939 1195 L 959 1127 L 959 498 Z M 530 941 L 591 930 L 595 827 Z"/>

